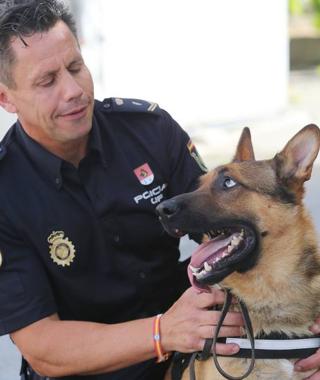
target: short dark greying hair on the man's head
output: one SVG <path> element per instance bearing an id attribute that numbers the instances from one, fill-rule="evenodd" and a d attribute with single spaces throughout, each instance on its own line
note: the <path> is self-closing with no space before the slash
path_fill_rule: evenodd
<path id="1" fill-rule="evenodd" d="M 75 21 L 68 8 L 59 0 L 13 0 L 11 6 L 0 9 L 0 82 L 14 88 L 12 67 L 15 55 L 12 38 L 19 38 L 28 46 L 24 37 L 50 30 L 63 21 L 77 38 Z M 1 4 L 0 4 L 1 5 Z"/>

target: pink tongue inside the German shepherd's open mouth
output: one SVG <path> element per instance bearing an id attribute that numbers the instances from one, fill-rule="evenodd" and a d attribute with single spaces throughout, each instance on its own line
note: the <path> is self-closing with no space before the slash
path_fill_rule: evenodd
<path id="1" fill-rule="evenodd" d="M 194 268 L 201 268 L 203 267 L 203 264 L 205 261 L 207 261 L 209 265 L 214 264 L 214 262 L 223 255 L 230 241 L 231 241 L 231 236 L 229 236 L 226 239 L 221 239 L 221 237 L 217 237 L 216 239 L 212 239 L 206 243 L 199 245 L 199 247 L 192 254 L 190 265 L 192 265 Z M 201 287 L 198 284 L 195 276 L 192 273 L 192 270 L 189 267 L 188 267 L 188 276 L 189 276 L 191 285 L 194 288 L 196 288 L 197 290 L 201 292 L 203 291 L 210 292 L 209 287 L 206 287 L 206 286 Z"/>

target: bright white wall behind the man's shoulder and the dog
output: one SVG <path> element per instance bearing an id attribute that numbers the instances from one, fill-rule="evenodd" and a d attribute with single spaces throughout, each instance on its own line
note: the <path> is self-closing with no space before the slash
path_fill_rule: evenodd
<path id="1" fill-rule="evenodd" d="M 90 0 L 82 20 L 98 97 L 158 102 L 184 126 L 287 104 L 286 0 Z"/>

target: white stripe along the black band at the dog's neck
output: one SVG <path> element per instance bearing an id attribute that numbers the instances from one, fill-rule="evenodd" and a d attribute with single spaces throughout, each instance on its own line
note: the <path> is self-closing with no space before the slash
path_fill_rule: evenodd
<path id="1" fill-rule="evenodd" d="M 303 348 L 320 347 L 320 338 L 306 339 L 255 339 L 255 349 L 257 350 L 299 350 Z M 227 338 L 226 343 L 235 343 L 240 348 L 251 349 L 249 339 Z"/>

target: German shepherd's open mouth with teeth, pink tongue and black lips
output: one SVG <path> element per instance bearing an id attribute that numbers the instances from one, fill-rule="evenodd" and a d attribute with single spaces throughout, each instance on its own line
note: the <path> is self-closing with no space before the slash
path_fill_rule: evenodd
<path id="1" fill-rule="evenodd" d="M 244 261 L 256 247 L 256 234 L 245 225 L 210 230 L 205 235 L 209 240 L 192 254 L 188 266 L 190 282 L 199 290 L 208 290 L 235 270 L 244 271 Z"/>

